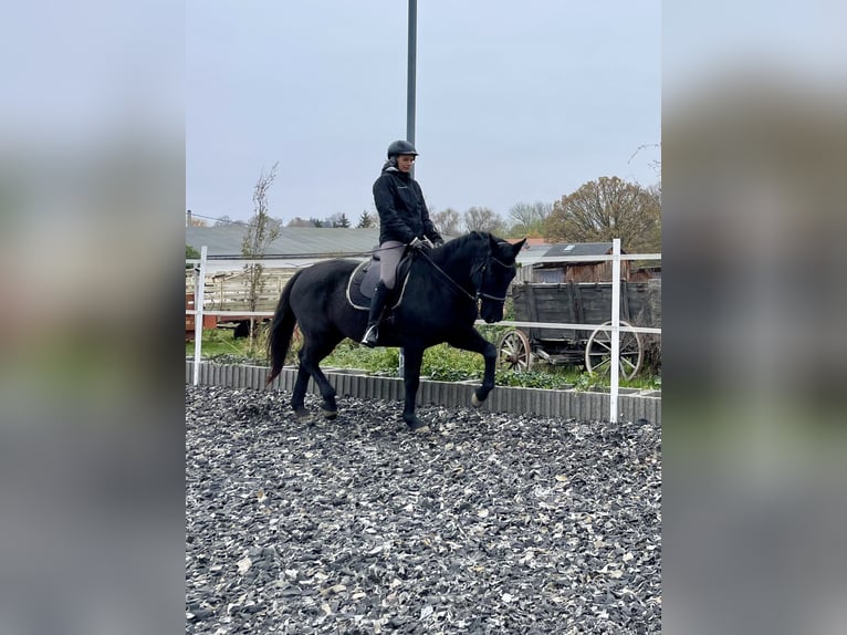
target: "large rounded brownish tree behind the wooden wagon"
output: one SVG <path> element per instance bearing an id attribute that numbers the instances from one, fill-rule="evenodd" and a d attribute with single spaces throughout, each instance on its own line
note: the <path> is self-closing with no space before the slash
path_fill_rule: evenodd
<path id="1" fill-rule="evenodd" d="M 630 253 L 661 249 L 660 197 L 618 177 L 600 177 L 553 204 L 546 237 L 573 242 L 619 238 Z"/>

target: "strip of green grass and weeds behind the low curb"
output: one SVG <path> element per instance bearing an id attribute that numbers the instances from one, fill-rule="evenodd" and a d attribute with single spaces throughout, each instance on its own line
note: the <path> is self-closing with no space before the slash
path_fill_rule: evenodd
<path id="1" fill-rule="evenodd" d="M 483 326 L 482 334 L 492 342 L 499 336 L 502 326 Z M 233 339 L 231 330 L 218 329 L 203 331 L 202 355 L 206 360 L 220 363 L 253 363 L 268 364 L 265 352 L 266 340 L 260 336 L 253 350 L 247 339 Z M 195 343 L 186 342 L 186 356 L 192 357 Z M 289 363 L 293 363 L 294 354 L 289 353 Z M 366 348 L 349 340 L 343 341 L 335 351 L 321 363 L 324 368 L 360 368 L 375 375 L 397 376 L 400 354 L 398 348 Z M 608 387 L 608 377 L 586 373 L 582 366 L 551 365 L 536 362 L 532 371 L 506 371 L 498 368 L 495 381 L 501 386 L 522 386 L 526 388 L 566 388 L 579 391 Z M 439 382 L 461 382 L 481 379 L 484 363 L 481 355 L 459 351 L 447 344 L 439 344 L 423 353 L 421 376 L 428 376 Z M 624 379 L 620 386 L 625 388 L 660 389 L 661 377 L 645 375 Z"/>

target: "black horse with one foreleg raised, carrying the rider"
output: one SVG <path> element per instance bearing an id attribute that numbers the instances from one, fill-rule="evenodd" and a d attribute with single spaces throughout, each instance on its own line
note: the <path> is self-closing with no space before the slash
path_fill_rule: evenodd
<path id="1" fill-rule="evenodd" d="M 473 231 L 429 252 L 415 253 L 408 278 L 398 278 L 400 303 L 384 315 L 378 345 L 404 350 L 402 418 L 410 429 L 426 427 L 415 415 L 415 398 L 423 351 L 430 346 L 447 342 L 485 358 L 482 385 L 471 399 L 474 406 L 482 405 L 494 388 L 496 346 L 473 323 L 478 315 L 488 323 L 503 319 L 506 289 L 515 275 L 515 257 L 523 243 L 510 244 L 491 233 Z M 282 291 L 268 342 L 268 383 L 282 371 L 296 323 L 303 345 L 291 406 L 299 417 L 309 415 L 304 397 L 310 377 L 323 396 L 324 414 L 336 415 L 335 389 L 318 364 L 342 340 L 358 342 L 365 332 L 367 311 L 355 308 L 347 298 L 347 284 L 358 264 L 353 260 L 318 262 L 297 271 Z"/>

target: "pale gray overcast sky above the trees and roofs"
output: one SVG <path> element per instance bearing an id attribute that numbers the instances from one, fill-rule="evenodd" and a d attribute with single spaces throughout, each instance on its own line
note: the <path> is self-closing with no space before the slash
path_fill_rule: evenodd
<path id="1" fill-rule="evenodd" d="M 247 219 L 375 212 L 406 136 L 406 0 L 188 0 L 186 206 Z M 660 2 L 418 2 L 416 178 L 430 211 L 649 186 L 661 140 Z M 632 155 L 640 146 L 650 146 Z"/>

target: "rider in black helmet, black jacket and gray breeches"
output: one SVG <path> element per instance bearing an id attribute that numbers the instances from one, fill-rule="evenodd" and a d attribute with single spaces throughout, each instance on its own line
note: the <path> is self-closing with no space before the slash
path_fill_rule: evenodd
<path id="1" fill-rule="evenodd" d="M 418 156 L 415 146 L 396 140 L 388 146 L 387 154 L 383 174 L 374 183 L 374 202 L 379 214 L 379 283 L 370 300 L 367 329 L 362 339 L 362 343 L 372 348 L 376 346 L 379 319 L 394 289 L 397 264 L 406 246 L 431 249 L 443 243 L 429 219 L 423 192 L 411 177 L 411 166 Z"/>

